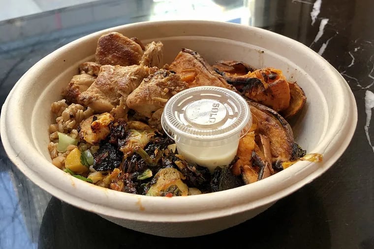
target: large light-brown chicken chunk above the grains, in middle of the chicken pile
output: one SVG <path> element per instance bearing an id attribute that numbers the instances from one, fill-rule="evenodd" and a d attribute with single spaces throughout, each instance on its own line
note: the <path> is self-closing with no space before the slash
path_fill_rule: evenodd
<path id="1" fill-rule="evenodd" d="M 148 68 L 138 65 L 101 66 L 95 82 L 78 99 L 96 112 L 109 112 L 120 105 L 120 97 L 127 98 L 147 75 Z"/>

